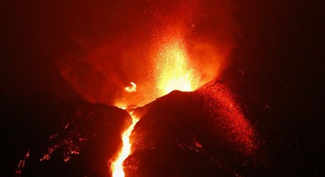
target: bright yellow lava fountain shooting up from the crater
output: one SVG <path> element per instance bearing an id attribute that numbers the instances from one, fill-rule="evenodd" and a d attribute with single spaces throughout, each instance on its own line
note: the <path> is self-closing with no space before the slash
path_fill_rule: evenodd
<path id="1" fill-rule="evenodd" d="M 181 39 L 171 40 L 161 47 L 156 58 L 159 96 L 173 90 L 193 91 L 198 87 L 199 77 L 195 77 L 188 59 L 185 44 Z"/>

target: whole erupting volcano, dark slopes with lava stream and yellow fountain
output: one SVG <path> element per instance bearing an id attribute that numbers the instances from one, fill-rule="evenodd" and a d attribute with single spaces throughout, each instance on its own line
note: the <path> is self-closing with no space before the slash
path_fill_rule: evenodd
<path id="1" fill-rule="evenodd" d="M 64 162 L 70 163 L 72 156 L 85 159 L 83 150 L 96 148 L 98 152 L 95 150 L 88 155 L 94 163 L 85 174 L 168 175 L 152 166 L 156 164 L 181 176 L 191 173 L 195 176 L 236 176 L 244 171 L 234 164 L 259 163 L 256 132 L 235 96 L 217 79 L 205 83 L 209 70 L 200 70 L 203 66 L 200 64 L 194 67 L 198 61 L 190 55 L 185 32 L 162 34 L 165 36 L 154 40 L 156 43 L 150 52 L 153 68 L 149 87 L 144 87 L 144 81 L 137 81 L 139 85 L 130 82 L 130 85 L 121 86 L 121 95 L 125 97 L 119 98 L 116 107 L 98 103 L 77 108 L 64 130 L 50 136 L 50 145 L 39 163 L 58 156 L 60 149 Z M 138 71 L 141 72 L 140 68 Z M 130 102 L 136 105 L 128 105 Z M 90 145 L 91 142 L 97 146 Z M 105 154 L 100 162 L 95 158 L 99 158 L 98 154 Z M 174 156 L 178 159 L 170 162 Z M 155 159 L 161 161 L 157 163 Z M 205 168 L 193 166 L 197 159 L 199 166 Z M 108 164 L 107 171 L 98 174 L 99 167 L 105 169 L 104 161 Z M 24 165 L 21 164 L 24 163 L 19 163 L 16 174 L 22 173 Z M 182 165 L 175 169 L 177 163 Z M 146 170 L 148 167 L 152 169 Z M 34 173 L 30 171 L 29 174 Z"/>

